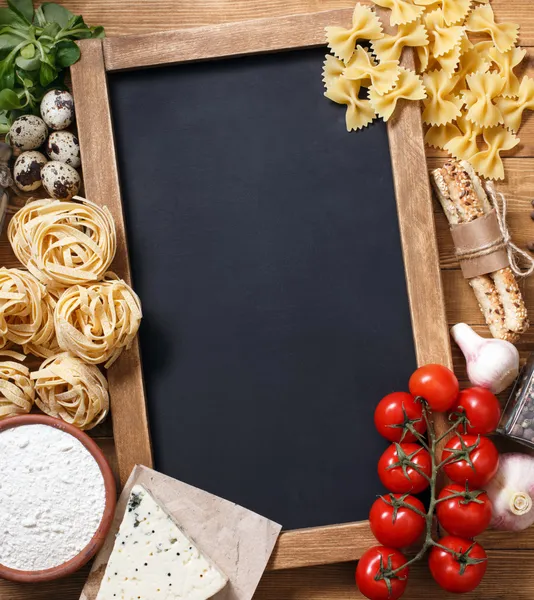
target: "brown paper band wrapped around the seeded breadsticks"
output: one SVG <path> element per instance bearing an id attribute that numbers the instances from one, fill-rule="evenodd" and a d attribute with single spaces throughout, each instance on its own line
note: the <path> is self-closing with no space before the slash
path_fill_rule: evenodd
<path id="1" fill-rule="evenodd" d="M 459 252 L 477 250 L 487 244 L 503 239 L 494 210 L 469 223 L 454 225 L 454 227 L 451 227 L 451 233 L 456 250 Z M 509 265 L 510 262 L 505 248 L 498 249 L 486 256 L 460 258 L 460 267 L 466 279 L 493 273 L 493 271 L 498 271 Z"/>

